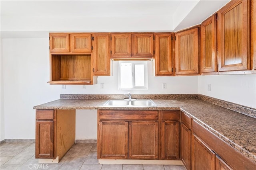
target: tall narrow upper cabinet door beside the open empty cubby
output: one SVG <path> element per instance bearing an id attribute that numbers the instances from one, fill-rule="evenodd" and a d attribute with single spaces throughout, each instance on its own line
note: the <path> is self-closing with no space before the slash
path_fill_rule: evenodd
<path id="1" fill-rule="evenodd" d="M 110 76 L 109 33 L 93 34 L 94 76 Z"/>

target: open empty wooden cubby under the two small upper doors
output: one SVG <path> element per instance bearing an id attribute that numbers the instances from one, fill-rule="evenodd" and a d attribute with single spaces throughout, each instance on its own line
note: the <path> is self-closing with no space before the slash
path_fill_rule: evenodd
<path id="1" fill-rule="evenodd" d="M 90 55 L 51 55 L 50 84 L 91 84 Z"/>

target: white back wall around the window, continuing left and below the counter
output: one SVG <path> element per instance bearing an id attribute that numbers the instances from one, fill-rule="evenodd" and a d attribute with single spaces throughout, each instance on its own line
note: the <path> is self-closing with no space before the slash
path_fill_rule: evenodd
<path id="1" fill-rule="evenodd" d="M 98 76 L 98 84 L 49 85 L 49 39 L 2 39 L 4 87 L 4 138 L 35 139 L 33 106 L 57 100 L 60 94 L 124 94 L 118 90 L 118 61 L 113 62 L 112 76 Z M 104 83 L 104 89 L 100 89 Z M 167 89 L 162 90 L 162 83 Z M 154 77 L 153 62 L 148 61 L 148 90 L 130 90 L 132 94 L 197 94 L 198 76 Z M 2 94 L 2 93 L 1 93 Z M 96 110 L 77 110 L 76 139 L 96 139 Z M 2 114 L 2 112 L 1 112 Z M 2 123 L 1 123 L 2 124 Z M 89 131 L 86 129 L 90 129 Z M 2 135 L 2 132 L 1 132 Z"/>

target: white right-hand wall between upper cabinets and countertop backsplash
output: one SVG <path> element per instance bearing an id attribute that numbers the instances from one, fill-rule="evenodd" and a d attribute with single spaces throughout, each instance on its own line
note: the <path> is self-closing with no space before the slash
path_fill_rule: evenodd
<path id="1" fill-rule="evenodd" d="M 256 108 L 256 74 L 199 76 L 198 93 Z"/>

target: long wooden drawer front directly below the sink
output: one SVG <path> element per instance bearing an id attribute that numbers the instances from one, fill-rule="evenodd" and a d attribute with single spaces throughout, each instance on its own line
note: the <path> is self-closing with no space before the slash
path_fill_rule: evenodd
<path id="1" fill-rule="evenodd" d="M 98 110 L 99 119 L 157 120 L 157 110 Z"/>

